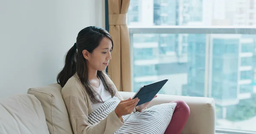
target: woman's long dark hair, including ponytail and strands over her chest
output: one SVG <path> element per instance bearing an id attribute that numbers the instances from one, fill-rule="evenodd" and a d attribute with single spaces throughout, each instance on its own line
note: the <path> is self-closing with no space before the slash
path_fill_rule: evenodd
<path id="1" fill-rule="evenodd" d="M 105 29 L 95 26 L 89 26 L 82 29 L 78 33 L 76 43 L 67 52 L 63 70 L 61 70 L 57 76 L 58 84 L 60 84 L 61 87 L 64 87 L 68 79 L 77 73 L 81 84 L 84 86 L 84 89 L 89 95 L 92 103 L 99 103 L 103 101 L 99 93 L 93 89 L 88 80 L 87 63 L 82 51 L 87 50 L 89 53 L 93 53 L 93 50 L 99 46 L 104 37 L 111 40 L 113 49 L 113 40 Z M 108 75 L 103 71 L 97 71 L 97 76 L 102 80 L 105 89 L 110 92 L 113 97 L 116 94 L 116 90 L 114 89 L 114 85 Z"/>

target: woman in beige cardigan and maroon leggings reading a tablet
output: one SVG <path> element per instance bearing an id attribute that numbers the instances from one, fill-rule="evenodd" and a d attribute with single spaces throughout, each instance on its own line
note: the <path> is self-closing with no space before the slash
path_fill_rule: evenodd
<path id="1" fill-rule="evenodd" d="M 112 50 L 110 34 L 103 28 L 90 26 L 78 33 L 76 43 L 66 55 L 57 81 L 63 87 L 61 93 L 74 134 L 113 134 L 123 125 L 123 115 L 141 112 L 150 103 L 136 106 L 140 101 L 138 98 L 123 100 L 118 94 L 115 85 L 104 73 Z M 114 96 L 121 100 L 115 110 L 99 123 L 88 123 L 88 115 Z M 174 102 L 177 106 L 166 134 L 180 134 L 189 117 L 187 104 L 181 100 Z"/>

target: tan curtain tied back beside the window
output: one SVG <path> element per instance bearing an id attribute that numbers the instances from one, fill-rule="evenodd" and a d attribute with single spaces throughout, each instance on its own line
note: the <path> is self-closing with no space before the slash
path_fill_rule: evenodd
<path id="1" fill-rule="evenodd" d="M 109 33 L 113 38 L 108 74 L 119 91 L 131 92 L 130 39 L 126 16 L 130 0 L 108 0 Z"/>

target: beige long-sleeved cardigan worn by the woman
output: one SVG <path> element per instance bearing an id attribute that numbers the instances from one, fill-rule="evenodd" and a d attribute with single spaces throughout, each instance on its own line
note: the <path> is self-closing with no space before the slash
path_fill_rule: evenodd
<path id="1" fill-rule="evenodd" d="M 99 123 L 91 125 L 88 122 L 88 115 L 93 112 L 93 108 L 91 100 L 76 74 L 67 81 L 61 94 L 74 134 L 113 134 L 123 125 L 114 110 Z M 115 96 L 123 100 L 117 90 Z"/>

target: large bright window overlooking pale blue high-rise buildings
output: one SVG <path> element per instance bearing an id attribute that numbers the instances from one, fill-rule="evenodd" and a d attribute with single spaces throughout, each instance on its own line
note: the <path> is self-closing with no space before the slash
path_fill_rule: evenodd
<path id="1" fill-rule="evenodd" d="M 250 123 L 256 122 L 256 112 L 250 110 L 256 109 L 256 32 L 247 28 L 249 22 L 256 24 L 252 1 L 131 0 L 128 18 L 137 11 L 148 16 L 138 16 L 136 24 L 128 19 L 133 92 L 143 84 L 172 79 L 166 84 L 174 92 L 163 88 L 160 93 L 225 102 L 215 102 L 216 129 L 256 132 Z M 152 8 L 145 10 L 145 4 Z"/>

